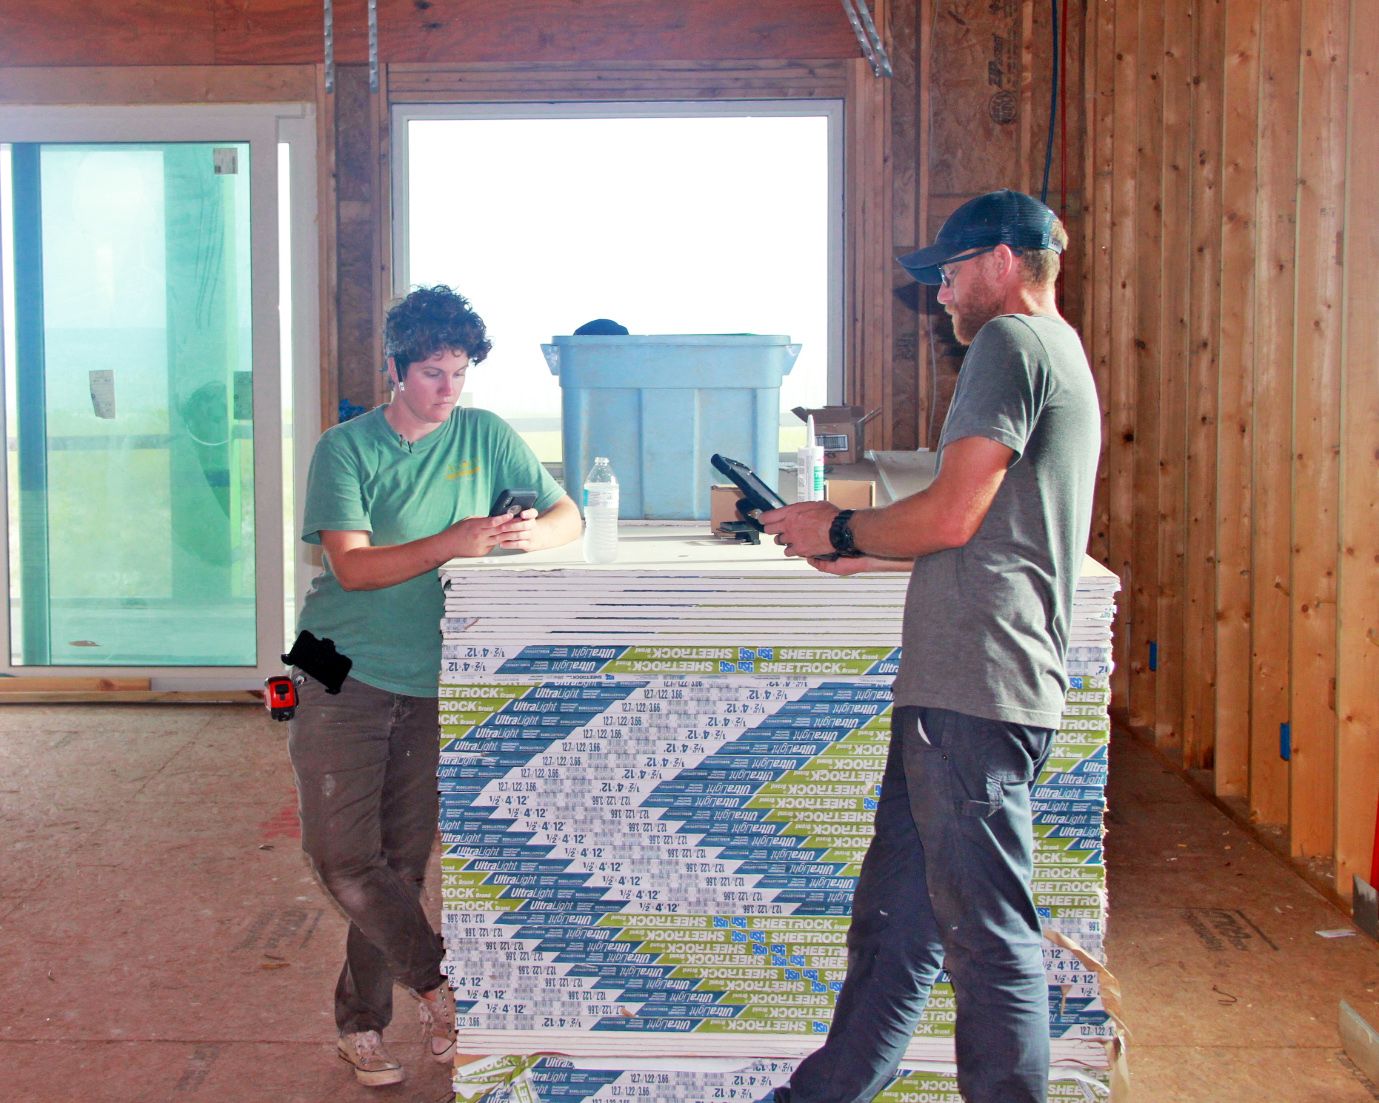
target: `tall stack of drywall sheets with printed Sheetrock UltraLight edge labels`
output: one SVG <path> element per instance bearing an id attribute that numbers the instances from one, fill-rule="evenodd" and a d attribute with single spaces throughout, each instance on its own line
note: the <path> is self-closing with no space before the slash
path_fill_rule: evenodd
<path id="1" fill-rule="evenodd" d="M 499 1081 L 542 1100 L 607 1085 L 623 1086 L 600 1099 L 764 1095 L 819 1044 L 841 984 L 906 579 L 461 569 L 445 583 L 447 968 L 461 1049 L 488 1055 L 459 1066 L 456 1096 Z M 1106 572 L 1080 582 L 1067 713 L 1034 794 L 1037 903 L 1088 958 L 1102 957 L 1114 589 Z M 1052 943 L 1045 961 L 1059 1091 L 1091 1091 L 1113 1034 L 1096 972 Z M 953 1013 L 939 983 L 914 1071 L 884 1099 L 952 1089 Z"/>

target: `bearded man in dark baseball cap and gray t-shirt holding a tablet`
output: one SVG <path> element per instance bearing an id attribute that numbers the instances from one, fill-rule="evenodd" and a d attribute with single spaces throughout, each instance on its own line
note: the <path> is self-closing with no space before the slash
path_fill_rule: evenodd
<path id="1" fill-rule="evenodd" d="M 968 1103 L 1044 1103 L 1048 984 L 1030 892 L 1030 790 L 1067 691 L 1100 409 L 1058 313 L 1067 233 L 1019 192 L 958 207 L 899 258 L 968 346 L 938 476 L 887 506 L 761 514 L 819 571 L 909 571 L 891 750 L 825 1045 L 778 1103 L 860 1103 L 895 1074 L 947 969 Z M 840 594 L 841 597 L 841 594 Z"/>

